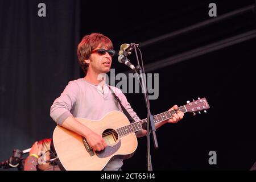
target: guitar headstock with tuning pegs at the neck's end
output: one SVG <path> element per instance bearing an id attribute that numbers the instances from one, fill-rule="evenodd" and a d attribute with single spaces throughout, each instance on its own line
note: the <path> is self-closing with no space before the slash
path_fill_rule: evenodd
<path id="1" fill-rule="evenodd" d="M 193 113 L 193 115 L 196 115 L 196 111 L 199 111 L 200 113 L 201 110 L 204 110 L 204 112 L 206 113 L 206 110 L 210 108 L 206 98 L 198 98 L 198 100 L 196 101 L 187 101 L 187 103 L 188 104 L 185 105 L 185 107 L 187 111 L 189 113 Z"/>

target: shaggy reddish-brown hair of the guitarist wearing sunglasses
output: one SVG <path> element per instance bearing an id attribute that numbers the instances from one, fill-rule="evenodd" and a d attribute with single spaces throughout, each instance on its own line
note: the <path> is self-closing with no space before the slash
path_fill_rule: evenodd
<path id="1" fill-rule="evenodd" d="M 105 46 L 108 49 L 113 49 L 111 40 L 105 35 L 99 33 L 85 35 L 77 46 L 77 57 L 79 60 L 79 65 L 81 66 L 85 75 L 87 73 L 89 64 L 86 64 L 84 60 L 89 59 L 91 51 L 98 46 Z"/>

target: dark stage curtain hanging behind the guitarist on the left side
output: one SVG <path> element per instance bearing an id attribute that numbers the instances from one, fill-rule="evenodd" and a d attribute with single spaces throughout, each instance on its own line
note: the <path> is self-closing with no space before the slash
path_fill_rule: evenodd
<path id="1" fill-rule="evenodd" d="M 79 1 L 0 2 L 0 160 L 13 149 L 51 138 L 49 109 L 68 80 L 80 75 L 76 47 Z"/>

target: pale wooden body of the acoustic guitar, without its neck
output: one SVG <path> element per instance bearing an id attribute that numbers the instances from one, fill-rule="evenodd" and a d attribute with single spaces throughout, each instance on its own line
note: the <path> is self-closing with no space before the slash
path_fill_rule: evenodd
<path id="1" fill-rule="evenodd" d="M 98 121 L 76 119 L 95 133 L 102 135 L 108 146 L 100 152 L 88 151 L 85 138 L 64 127 L 56 126 L 52 137 L 53 146 L 65 170 L 102 170 L 110 159 L 128 159 L 133 156 L 138 146 L 135 133 L 119 137 L 115 132 L 119 127 L 130 124 L 120 111 L 111 111 Z"/>

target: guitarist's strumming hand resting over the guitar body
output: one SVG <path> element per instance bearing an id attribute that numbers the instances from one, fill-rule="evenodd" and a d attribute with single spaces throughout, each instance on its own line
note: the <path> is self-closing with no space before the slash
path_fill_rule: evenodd
<path id="1" fill-rule="evenodd" d="M 101 151 L 107 146 L 105 140 L 93 131 L 86 136 L 86 141 L 94 151 Z"/>

